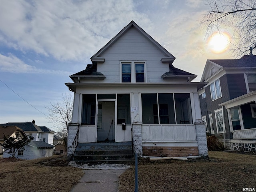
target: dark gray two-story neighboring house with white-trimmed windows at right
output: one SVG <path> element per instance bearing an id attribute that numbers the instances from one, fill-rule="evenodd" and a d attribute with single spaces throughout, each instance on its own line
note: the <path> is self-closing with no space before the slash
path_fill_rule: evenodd
<path id="1" fill-rule="evenodd" d="M 201 81 L 206 131 L 226 148 L 256 151 L 256 56 L 207 60 Z"/>

